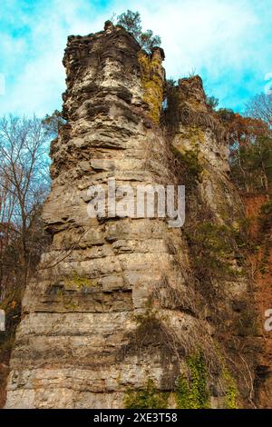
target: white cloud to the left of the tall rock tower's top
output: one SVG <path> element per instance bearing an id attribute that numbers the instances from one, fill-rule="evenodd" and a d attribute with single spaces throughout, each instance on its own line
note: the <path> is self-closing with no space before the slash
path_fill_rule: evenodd
<path id="1" fill-rule="evenodd" d="M 24 13 L 18 19 L 25 24 Z M 101 19 L 86 1 L 53 0 L 31 15 L 28 25 L 31 32 L 27 42 L 5 35 L 2 51 L 7 84 L 5 95 L 0 97 L 1 114 L 44 115 L 60 108 L 65 89 L 62 59 L 67 36 L 98 31 Z"/>

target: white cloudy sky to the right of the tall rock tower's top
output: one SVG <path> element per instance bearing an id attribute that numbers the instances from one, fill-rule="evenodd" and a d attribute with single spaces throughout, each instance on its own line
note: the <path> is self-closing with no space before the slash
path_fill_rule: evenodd
<path id="1" fill-rule="evenodd" d="M 137 2 L 132 6 L 137 9 Z M 195 70 L 230 106 L 241 107 L 251 92 L 262 90 L 272 66 L 268 0 L 157 1 L 152 9 L 141 2 L 139 10 L 144 26 L 161 36 L 169 76 Z"/>

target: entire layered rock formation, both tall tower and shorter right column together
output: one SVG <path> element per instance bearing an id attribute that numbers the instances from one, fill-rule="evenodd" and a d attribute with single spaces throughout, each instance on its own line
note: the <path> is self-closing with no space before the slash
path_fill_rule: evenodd
<path id="1" fill-rule="evenodd" d="M 52 143 L 44 205 L 53 242 L 24 294 L 7 408 L 121 408 L 140 404 L 147 384 L 179 407 L 177 384 L 186 390 L 198 357 L 206 386 L 185 406 L 254 401 L 252 293 L 230 233 L 243 208 L 228 180 L 228 135 L 199 77 L 180 80 L 161 111 L 163 57 L 159 48 L 141 52 L 111 23 L 68 39 L 67 124 Z M 88 188 L 100 184 L 107 194 L 110 178 L 118 187 L 185 184 L 184 226 L 116 213 L 90 218 Z M 231 264 L 231 273 L 205 261 L 203 233 L 205 242 L 219 235 L 218 269 Z"/>

